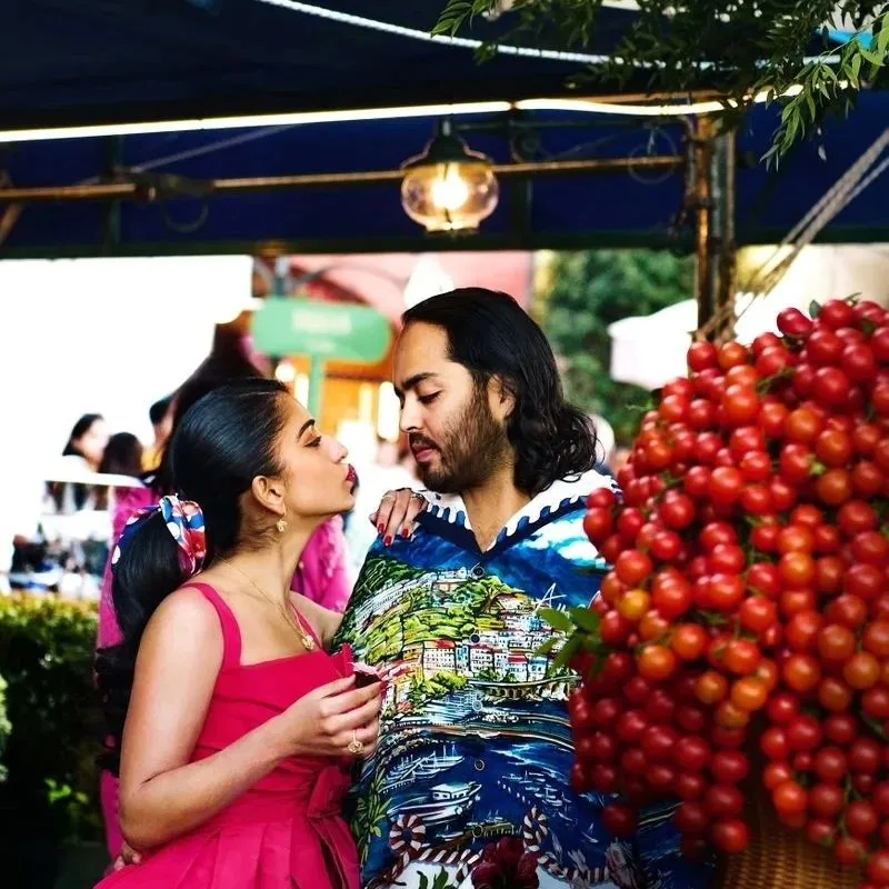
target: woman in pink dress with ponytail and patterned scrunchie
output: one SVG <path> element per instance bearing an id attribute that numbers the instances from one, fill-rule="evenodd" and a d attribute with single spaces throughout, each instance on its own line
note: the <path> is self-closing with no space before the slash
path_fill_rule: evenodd
<path id="1" fill-rule="evenodd" d="M 183 499 L 124 532 L 122 641 L 97 661 L 120 822 L 143 853 L 101 889 L 357 889 L 339 803 L 373 751 L 380 686 L 353 688 L 350 653 L 324 650 L 340 616 L 290 591 L 309 537 L 353 503 L 344 458 L 273 380 L 223 386 L 183 417 Z"/>

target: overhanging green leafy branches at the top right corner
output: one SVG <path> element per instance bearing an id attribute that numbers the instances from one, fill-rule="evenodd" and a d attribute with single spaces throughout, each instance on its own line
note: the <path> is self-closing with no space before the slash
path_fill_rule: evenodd
<path id="1" fill-rule="evenodd" d="M 450 0 L 434 30 L 455 34 L 502 6 L 502 0 Z M 516 0 L 510 39 L 530 33 L 546 42 L 555 32 L 562 44 L 590 47 L 603 6 L 605 0 Z M 828 46 L 826 27 L 838 18 L 858 29 L 839 50 Z M 813 43 L 823 51 L 812 54 Z M 487 43 L 480 56 L 496 51 Z M 859 90 L 885 76 L 888 53 L 887 2 L 646 0 L 610 60 L 590 68 L 578 83 L 623 87 L 641 76 L 650 93 L 716 89 L 726 97 L 729 123 L 758 96 L 780 101 L 781 122 L 767 153 L 777 160 L 828 113 L 848 111 Z"/>

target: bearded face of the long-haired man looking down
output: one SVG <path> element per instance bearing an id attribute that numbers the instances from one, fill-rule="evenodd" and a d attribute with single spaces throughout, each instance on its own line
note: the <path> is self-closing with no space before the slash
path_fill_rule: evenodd
<path id="1" fill-rule="evenodd" d="M 508 465 L 506 434 L 511 400 L 489 383 L 480 389 L 469 371 L 448 358 L 448 334 L 433 324 L 409 324 L 394 354 L 401 429 L 423 485 L 458 493 L 483 485 Z"/>

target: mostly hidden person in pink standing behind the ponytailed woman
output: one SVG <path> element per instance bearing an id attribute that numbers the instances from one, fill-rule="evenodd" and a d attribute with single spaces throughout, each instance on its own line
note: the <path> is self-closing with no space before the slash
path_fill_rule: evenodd
<path id="1" fill-rule="evenodd" d="M 244 354 L 240 332 L 229 324 L 218 326 L 210 356 L 177 392 L 172 431 L 174 432 L 179 428 L 186 411 L 208 392 L 212 392 L 231 380 L 261 376 L 263 374 Z M 157 472 L 146 478 L 143 488 L 118 490 L 113 513 L 112 551 L 129 519 L 146 507 L 156 505 L 164 495 L 174 493 L 170 462 L 168 447 L 164 449 Z M 336 516 L 321 525 L 309 539 L 293 575 L 291 589 L 323 608 L 342 612 L 352 593 L 352 585 L 353 578 L 347 558 L 342 519 Z M 111 599 L 109 562 L 102 581 L 97 647 L 107 648 L 118 645 L 120 641 L 120 627 Z M 110 771 L 104 770 L 101 773 L 100 785 L 106 840 L 108 851 L 114 859 L 120 855 L 123 845 L 118 818 L 118 779 Z"/>

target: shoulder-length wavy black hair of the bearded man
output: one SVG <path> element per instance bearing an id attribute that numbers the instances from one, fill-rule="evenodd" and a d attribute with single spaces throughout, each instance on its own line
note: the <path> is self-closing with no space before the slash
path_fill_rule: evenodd
<path id="1" fill-rule="evenodd" d="M 498 377 L 516 400 L 507 434 L 516 452 L 516 487 L 528 495 L 596 465 L 589 417 L 568 404 L 543 331 L 512 297 L 472 287 L 418 303 L 404 324 L 440 327 L 449 358 L 479 388 Z"/>

